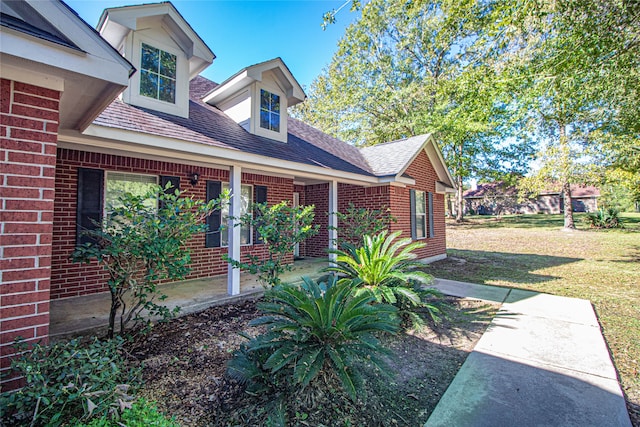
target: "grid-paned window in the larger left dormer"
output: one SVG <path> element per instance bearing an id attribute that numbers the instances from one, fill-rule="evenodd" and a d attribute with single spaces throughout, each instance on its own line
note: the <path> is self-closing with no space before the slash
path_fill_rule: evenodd
<path id="1" fill-rule="evenodd" d="M 176 56 L 142 43 L 141 58 L 140 95 L 175 104 Z"/>

